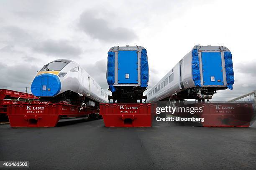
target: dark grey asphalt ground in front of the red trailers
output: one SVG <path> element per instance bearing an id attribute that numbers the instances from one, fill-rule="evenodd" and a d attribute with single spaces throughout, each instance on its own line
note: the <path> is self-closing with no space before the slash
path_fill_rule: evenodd
<path id="1" fill-rule="evenodd" d="M 103 120 L 81 118 L 61 120 L 54 128 L 3 124 L 3 160 L 29 161 L 23 170 L 255 170 L 256 126 L 153 122 L 151 128 L 106 128 Z"/>

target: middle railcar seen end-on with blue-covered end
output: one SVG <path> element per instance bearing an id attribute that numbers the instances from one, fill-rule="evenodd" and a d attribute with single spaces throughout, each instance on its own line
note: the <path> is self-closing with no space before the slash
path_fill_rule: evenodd
<path id="1" fill-rule="evenodd" d="M 107 81 L 113 102 L 146 99 L 149 79 L 147 51 L 141 46 L 112 47 L 108 51 Z"/>

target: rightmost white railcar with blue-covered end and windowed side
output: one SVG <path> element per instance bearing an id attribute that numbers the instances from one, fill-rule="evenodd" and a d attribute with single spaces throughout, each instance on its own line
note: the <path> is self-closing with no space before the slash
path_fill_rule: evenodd
<path id="1" fill-rule="evenodd" d="M 232 55 L 228 48 L 196 45 L 147 92 L 147 102 L 209 100 L 217 90 L 232 90 L 233 84 Z"/>

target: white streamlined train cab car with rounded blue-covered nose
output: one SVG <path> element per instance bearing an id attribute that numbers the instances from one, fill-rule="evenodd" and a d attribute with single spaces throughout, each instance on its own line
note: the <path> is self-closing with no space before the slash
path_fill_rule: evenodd
<path id="1" fill-rule="evenodd" d="M 40 101 L 59 102 L 79 97 L 86 98 L 91 105 L 108 101 L 106 92 L 79 64 L 65 59 L 44 65 L 31 84 L 31 92 Z"/>

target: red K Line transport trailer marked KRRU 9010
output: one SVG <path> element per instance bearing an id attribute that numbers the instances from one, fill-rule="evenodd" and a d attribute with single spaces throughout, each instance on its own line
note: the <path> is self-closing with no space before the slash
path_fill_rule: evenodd
<path id="1" fill-rule="evenodd" d="M 65 103 L 8 105 L 7 115 L 11 127 L 54 127 L 60 117 L 81 117 L 99 113 L 99 109 L 84 108 Z"/>

